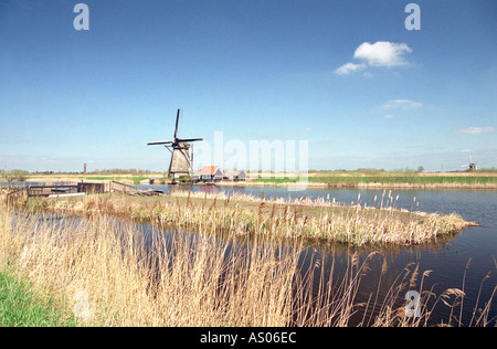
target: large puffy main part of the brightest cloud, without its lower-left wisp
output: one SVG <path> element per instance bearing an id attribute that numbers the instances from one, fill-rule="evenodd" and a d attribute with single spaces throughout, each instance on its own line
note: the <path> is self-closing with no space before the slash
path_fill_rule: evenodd
<path id="1" fill-rule="evenodd" d="M 404 61 L 404 54 L 411 52 L 412 49 L 405 43 L 378 41 L 371 44 L 364 42 L 357 47 L 353 57 L 362 60 L 371 66 L 396 66 L 408 64 Z"/>

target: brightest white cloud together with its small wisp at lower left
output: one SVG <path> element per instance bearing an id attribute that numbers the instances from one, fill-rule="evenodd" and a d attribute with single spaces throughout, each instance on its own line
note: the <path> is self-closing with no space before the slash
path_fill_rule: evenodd
<path id="1" fill-rule="evenodd" d="M 353 59 L 362 61 L 360 63 L 349 62 L 335 71 L 337 75 L 349 75 L 350 73 L 361 71 L 368 66 L 400 66 L 406 65 L 404 60 L 406 53 L 412 49 L 405 43 L 395 43 L 389 41 L 377 41 L 376 43 L 364 42 L 360 44 L 353 53 Z"/>

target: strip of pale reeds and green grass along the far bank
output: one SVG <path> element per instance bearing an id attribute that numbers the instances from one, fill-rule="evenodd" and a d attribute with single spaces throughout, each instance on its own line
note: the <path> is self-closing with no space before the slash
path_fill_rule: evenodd
<path id="1" fill-rule="evenodd" d="M 38 182 L 109 181 L 138 184 L 144 179 L 156 178 L 156 183 L 168 183 L 165 173 L 149 170 L 102 170 L 92 173 L 23 173 L 23 180 Z M 327 188 L 387 188 L 387 189 L 497 189 L 497 171 L 482 169 L 475 172 L 419 172 L 414 170 L 384 171 L 362 169 L 356 171 L 309 171 L 299 173 L 248 173 L 243 182 L 225 182 L 233 186 L 292 186 L 304 182 L 308 187 Z"/>

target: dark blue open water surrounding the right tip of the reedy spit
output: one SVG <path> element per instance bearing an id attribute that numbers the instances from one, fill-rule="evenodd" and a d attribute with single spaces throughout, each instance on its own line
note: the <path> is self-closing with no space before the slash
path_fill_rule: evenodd
<path id="1" fill-rule="evenodd" d="M 307 195 L 310 199 L 324 199 L 346 204 L 367 203 L 368 207 L 379 207 L 381 198 L 388 195 L 383 190 L 358 190 L 358 189 L 306 189 L 305 191 L 288 191 L 281 187 L 220 187 L 220 186 L 194 186 L 171 187 L 168 186 L 142 186 L 155 190 L 202 191 L 209 193 L 242 193 L 254 197 L 265 194 L 269 198 L 299 199 Z M 463 231 L 453 237 L 422 246 L 384 247 L 374 250 L 378 255 L 369 260 L 371 271 L 364 276 L 358 294 L 358 302 L 368 302 L 371 293 L 378 288 L 378 279 L 381 273 L 383 258 L 388 262 L 388 272 L 383 275 L 380 287 L 381 294 L 387 294 L 395 279 L 405 273 L 405 267 L 411 263 L 412 271 L 419 265 L 420 277 L 424 271 L 432 271 L 424 279 L 423 290 L 431 289 L 437 296 L 448 288 L 464 289 L 463 325 L 472 321 L 474 308 L 483 308 L 491 298 L 497 285 L 497 191 L 496 190 L 392 190 L 392 197 L 399 198 L 393 205 L 398 209 L 409 211 L 424 211 L 429 213 L 438 212 L 448 214 L 455 212 L 464 219 L 480 223 L 480 226 Z M 374 201 L 377 198 L 377 201 Z M 414 200 L 415 198 L 415 200 Z M 387 199 L 384 200 L 384 202 Z M 307 258 L 310 261 L 322 260 L 327 268 L 334 265 L 334 273 L 340 273 L 345 268 L 348 256 L 358 253 L 363 260 L 373 252 L 373 248 L 350 248 L 343 245 L 327 245 L 309 247 Z M 470 262 L 470 263 L 468 263 Z M 466 266 L 469 264 L 468 268 Z M 489 278 L 486 276 L 490 273 Z M 484 279 L 485 278 L 485 279 Z M 463 284 L 463 279 L 465 281 Z M 419 283 L 417 283 L 419 284 Z M 419 287 L 419 285 L 416 286 Z M 414 290 L 416 290 L 414 288 Z M 479 295 L 479 297 L 478 297 Z M 490 304 L 489 318 L 497 317 L 497 297 Z M 398 304 L 403 304 L 399 299 Z M 442 302 L 440 302 L 442 304 Z M 457 308 L 457 319 L 459 319 Z M 442 319 L 447 320 L 450 309 L 437 306 L 431 319 L 436 324 Z M 359 318 L 357 319 L 360 320 Z M 454 324 L 454 322 L 453 322 Z M 495 326 L 494 319 L 489 325 Z"/>

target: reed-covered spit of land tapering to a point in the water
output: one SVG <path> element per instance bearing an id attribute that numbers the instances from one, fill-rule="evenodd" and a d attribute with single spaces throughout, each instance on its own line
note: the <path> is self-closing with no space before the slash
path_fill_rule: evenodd
<path id="1" fill-rule="evenodd" d="M 334 201 L 269 200 L 246 195 L 173 193 L 159 199 L 94 195 L 77 200 L 39 200 L 31 210 L 74 214 L 109 214 L 151 222 L 160 228 L 224 232 L 231 236 L 304 237 L 350 245 L 411 245 L 451 235 L 476 223 L 457 214 L 440 215 L 393 209 L 395 198 L 378 208 L 339 205 Z"/>

